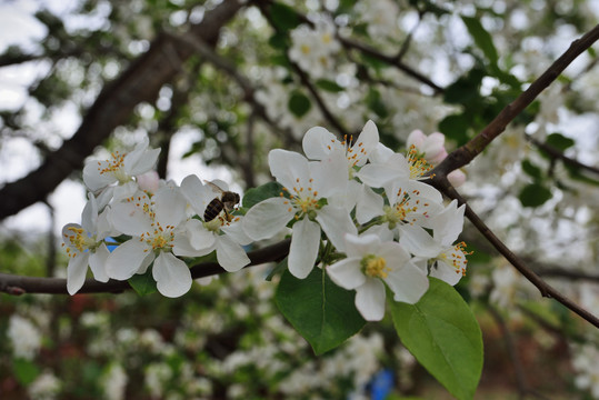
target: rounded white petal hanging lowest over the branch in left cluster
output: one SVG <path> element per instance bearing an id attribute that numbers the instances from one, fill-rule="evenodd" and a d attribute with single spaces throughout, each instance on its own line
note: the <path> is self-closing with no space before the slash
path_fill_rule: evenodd
<path id="1" fill-rule="evenodd" d="M 191 289 L 191 272 L 188 266 L 171 253 L 161 252 L 154 260 L 152 277 L 158 291 L 166 297 L 177 298 Z"/>

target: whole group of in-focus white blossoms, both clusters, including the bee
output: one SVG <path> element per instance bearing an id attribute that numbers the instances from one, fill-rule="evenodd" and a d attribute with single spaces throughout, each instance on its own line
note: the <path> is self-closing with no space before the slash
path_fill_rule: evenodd
<path id="1" fill-rule="evenodd" d="M 455 243 L 463 207 L 446 206 L 421 181 L 432 167 L 427 157 L 447 154 L 443 141 L 421 133 L 410 141 L 406 157 L 379 142 L 372 121 L 356 141 L 312 128 L 303 137 L 306 156 L 270 151 L 271 173 L 283 189 L 246 216 L 232 211 L 239 196 L 224 182 L 189 176 L 178 186 L 149 174 L 159 150 L 147 140 L 130 153 L 92 161 L 83 170 L 91 192 L 82 222 L 62 232 L 71 258 L 68 291 L 82 287 L 88 266 L 104 282 L 151 266 L 158 291 L 179 297 L 192 283 L 183 258 L 216 252 L 224 270 L 238 271 L 250 262 L 242 246 L 291 228 L 289 271 L 303 279 L 315 266 L 326 268 L 338 286 L 356 290 L 365 319 L 380 320 L 386 286 L 396 301 L 416 303 L 428 274 L 456 284 L 466 272 L 465 244 Z"/>

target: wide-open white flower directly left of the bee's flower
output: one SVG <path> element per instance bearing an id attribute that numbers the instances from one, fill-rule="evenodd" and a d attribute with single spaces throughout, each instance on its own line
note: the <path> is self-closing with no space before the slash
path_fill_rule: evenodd
<path id="1" fill-rule="evenodd" d="M 146 193 L 113 204 L 112 226 L 132 238 L 110 253 L 106 271 L 110 278 L 127 280 L 144 273 L 153 261 L 152 277 L 160 293 L 179 297 L 191 288 L 188 266 L 173 256 L 201 254 L 189 246 L 183 222 L 186 199 L 178 188 L 163 187 L 150 199 Z"/>

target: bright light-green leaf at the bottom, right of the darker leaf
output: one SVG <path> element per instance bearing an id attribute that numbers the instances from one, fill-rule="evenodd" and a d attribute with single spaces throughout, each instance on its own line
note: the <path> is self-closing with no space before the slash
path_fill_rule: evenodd
<path id="1" fill-rule="evenodd" d="M 406 348 L 451 394 L 472 399 L 482 371 L 480 327 L 451 286 L 429 280 L 416 304 L 390 301 L 393 324 Z"/>

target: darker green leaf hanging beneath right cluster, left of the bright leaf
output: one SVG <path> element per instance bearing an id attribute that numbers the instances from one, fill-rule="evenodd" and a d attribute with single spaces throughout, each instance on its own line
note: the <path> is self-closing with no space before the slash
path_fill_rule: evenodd
<path id="1" fill-rule="evenodd" d="M 341 344 L 366 324 L 355 306 L 355 291 L 335 284 L 323 269 L 306 279 L 284 271 L 277 288 L 279 310 L 296 330 L 322 354 Z"/>

